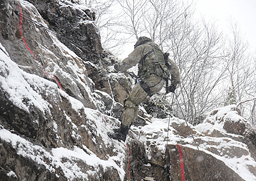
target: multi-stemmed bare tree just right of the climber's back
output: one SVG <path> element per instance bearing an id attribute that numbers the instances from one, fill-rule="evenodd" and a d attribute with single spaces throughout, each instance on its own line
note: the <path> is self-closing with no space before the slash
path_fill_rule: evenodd
<path id="1" fill-rule="evenodd" d="M 200 123 L 207 111 L 219 105 L 221 81 L 226 69 L 222 67 L 221 34 L 214 24 L 192 23 L 191 17 L 180 21 L 169 38 L 169 48 L 179 65 L 182 82 L 179 98 L 192 124 Z"/>

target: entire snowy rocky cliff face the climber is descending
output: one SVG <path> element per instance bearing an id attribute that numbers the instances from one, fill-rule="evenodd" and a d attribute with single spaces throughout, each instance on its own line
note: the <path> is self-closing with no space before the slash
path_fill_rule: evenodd
<path id="1" fill-rule="evenodd" d="M 189 125 L 200 151 L 184 120 L 142 110 L 126 143 L 108 137 L 132 81 L 94 16 L 79 1 L 0 1 L 0 180 L 256 180 L 256 131 L 234 105 Z"/>

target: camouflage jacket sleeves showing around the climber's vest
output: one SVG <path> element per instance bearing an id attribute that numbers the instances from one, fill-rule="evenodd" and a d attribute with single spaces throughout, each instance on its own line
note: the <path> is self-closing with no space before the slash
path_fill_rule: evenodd
<path id="1" fill-rule="evenodd" d="M 157 44 L 150 42 L 157 46 Z M 158 47 L 158 46 L 157 46 Z M 135 66 L 136 64 L 140 64 L 141 58 L 144 57 L 148 52 L 152 50 L 152 46 L 149 43 L 141 44 L 140 46 L 136 47 L 132 53 L 128 55 L 127 58 L 123 59 L 122 62 L 117 64 L 117 67 L 120 71 L 126 71 L 127 69 Z M 154 53 L 151 53 L 146 60 L 150 58 L 154 58 Z M 172 69 L 170 70 L 171 74 L 171 82 L 173 85 L 177 86 L 180 83 L 180 73 L 177 65 L 171 60 L 168 59 L 170 64 L 172 65 Z"/>

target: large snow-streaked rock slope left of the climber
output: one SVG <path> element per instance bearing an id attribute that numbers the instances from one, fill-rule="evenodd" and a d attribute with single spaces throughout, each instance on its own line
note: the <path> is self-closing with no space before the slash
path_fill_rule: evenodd
<path id="1" fill-rule="evenodd" d="M 63 2 L 44 1 L 54 8 Z M 111 94 L 95 89 L 86 63 L 46 30 L 49 23 L 35 6 L 18 0 L 0 6 L 1 180 L 126 179 L 127 148 L 107 135 L 120 125 L 106 115 L 117 104 Z"/>

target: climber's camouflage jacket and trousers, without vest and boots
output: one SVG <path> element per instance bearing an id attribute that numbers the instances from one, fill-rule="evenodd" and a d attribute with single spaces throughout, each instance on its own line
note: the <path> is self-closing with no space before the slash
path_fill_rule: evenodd
<path id="1" fill-rule="evenodd" d="M 145 40 L 145 39 L 144 39 Z M 150 40 L 150 39 L 149 39 Z M 139 64 L 138 67 L 144 66 L 140 64 L 141 58 L 144 57 L 148 52 L 150 52 L 153 46 L 158 47 L 157 44 L 150 42 L 144 42 L 145 44 L 140 44 L 137 42 L 135 44 L 135 49 L 132 53 L 129 54 L 127 58 L 125 58 L 122 62 L 117 64 L 117 68 L 120 71 L 126 71 L 127 69 L 136 66 Z M 159 56 L 159 55 L 157 55 Z M 145 61 L 152 61 L 155 59 L 155 53 L 151 53 L 149 56 L 146 57 Z M 172 69 L 170 70 L 171 75 L 171 82 L 173 85 L 177 86 L 180 83 L 180 74 L 177 65 L 170 59 L 168 59 L 170 64 L 172 65 Z M 146 65 L 149 66 L 149 65 Z M 141 70 L 147 69 L 147 67 L 140 67 Z M 149 68 L 149 67 L 148 67 Z M 141 73 L 141 72 L 140 72 Z M 159 74 L 158 74 L 159 75 Z M 143 73 L 140 74 L 141 81 L 145 82 L 149 88 L 149 94 L 154 95 L 160 92 L 163 88 L 165 80 L 163 77 L 158 76 L 157 74 L 149 74 L 144 76 Z M 124 112 L 122 115 L 122 124 L 124 126 L 130 126 L 137 118 L 138 114 L 138 104 L 141 102 L 147 101 L 150 96 L 145 90 L 140 86 L 140 83 L 137 83 L 133 88 L 127 98 L 124 101 Z"/>

